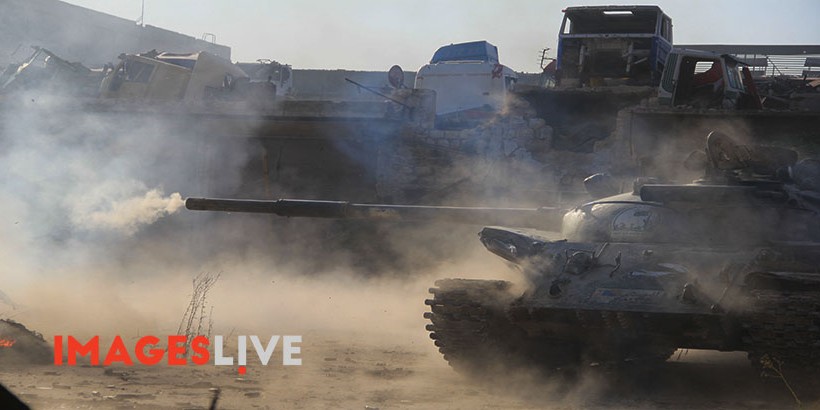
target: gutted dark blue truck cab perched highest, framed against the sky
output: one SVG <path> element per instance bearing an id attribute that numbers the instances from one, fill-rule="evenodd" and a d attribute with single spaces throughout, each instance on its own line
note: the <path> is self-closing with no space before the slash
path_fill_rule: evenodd
<path id="1" fill-rule="evenodd" d="M 672 19 L 657 6 L 568 7 L 558 35 L 556 86 L 658 85 Z"/>

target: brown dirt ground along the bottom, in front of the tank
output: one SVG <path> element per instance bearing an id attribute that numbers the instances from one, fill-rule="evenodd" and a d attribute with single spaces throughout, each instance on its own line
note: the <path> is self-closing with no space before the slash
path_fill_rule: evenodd
<path id="1" fill-rule="evenodd" d="M 423 331 L 419 332 L 424 334 Z M 303 335 L 302 366 L 3 366 L 0 382 L 34 409 L 787 409 L 778 380 L 744 354 L 678 351 L 647 373 L 526 371 L 477 382 L 452 371 L 423 337 L 373 331 Z M 281 357 L 281 356 L 280 356 Z M 281 362 L 280 362 L 281 363 Z M 512 380 L 514 378 L 514 380 Z M 803 408 L 820 408 L 804 403 Z"/>

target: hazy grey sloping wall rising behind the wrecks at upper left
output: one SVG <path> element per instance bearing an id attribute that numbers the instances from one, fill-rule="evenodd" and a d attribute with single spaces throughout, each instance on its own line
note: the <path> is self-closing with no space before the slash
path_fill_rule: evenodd
<path id="1" fill-rule="evenodd" d="M 137 16 L 134 16 L 135 18 Z M 151 49 L 208 51 L 230 58 L 231 49 L 158 27 L 57 0 L 0 0 L 0 64 L 28 57 L 30 46 L 45 47 L 89 67 L 116 62 L 120 53 Z"/>

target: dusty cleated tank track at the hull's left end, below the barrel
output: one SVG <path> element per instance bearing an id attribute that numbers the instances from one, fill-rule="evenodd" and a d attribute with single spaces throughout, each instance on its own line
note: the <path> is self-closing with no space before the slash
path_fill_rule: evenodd
<path id="1" fill-rule="evenodd" d="M 468 376 L 509 374 L 521 365 L 558 367 L 577 355 L 528 337 L 510 322 L 507 308 L 514 296 L 510 283 L 497 280 L 444 279 L 430 289 L 427 330 L 450 366 Z"/>

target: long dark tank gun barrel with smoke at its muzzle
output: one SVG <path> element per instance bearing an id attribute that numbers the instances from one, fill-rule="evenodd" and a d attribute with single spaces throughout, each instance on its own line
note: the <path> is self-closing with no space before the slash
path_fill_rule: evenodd
<path id="1" fill-rule="evenodd" d="M 477 225 L 514 225 L 554 228 L 564 211 L 559 208 L 492 208 L 357 204 L 346 201 L 304 199 L 250 200 L 188 198 L 185 207 L 195 211 L 248 212 L 286 217 L 430 220 Z"/>

